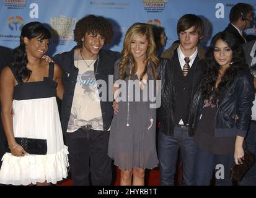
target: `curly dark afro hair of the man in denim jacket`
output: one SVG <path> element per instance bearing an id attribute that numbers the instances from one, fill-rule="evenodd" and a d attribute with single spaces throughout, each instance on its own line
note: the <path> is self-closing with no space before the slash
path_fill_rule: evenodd
<path id="1" fill-rule="evenodd" d="M 76 41 L 78 46 L 82 46 L 81 39 L 86 33 L 92 33 L 94 36 L 99 34 L 105 38 L 106 43 L 110 43 L 114 35 L 110 22 L 104 17 L 97 17 L 95 15 L 87 15 L 76 23 L 74 41 Z"/>

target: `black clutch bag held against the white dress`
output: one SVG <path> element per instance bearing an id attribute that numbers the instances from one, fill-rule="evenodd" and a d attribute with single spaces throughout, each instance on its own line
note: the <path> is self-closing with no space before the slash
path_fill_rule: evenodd
<path id="1" fill-rule="evenodd" d="M 45 139 L 33 139 L 27 137 L 15 137 L 17 144 L 21 145 L 23 149 L 29 154 L 46 155 L 47 142 Z M 6 142 L 6 152 L 11 152 Z"/>

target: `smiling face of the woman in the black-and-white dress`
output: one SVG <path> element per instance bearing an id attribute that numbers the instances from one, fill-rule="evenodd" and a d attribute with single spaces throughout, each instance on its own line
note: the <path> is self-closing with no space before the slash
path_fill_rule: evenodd
<path id="1" fill-rule="evenodd" d="M 31 38 L 24 37 L 25 49 L 28 56 L 42 58 L 48 49 L 49 39 L 42 39 L 40 36 Z"/>

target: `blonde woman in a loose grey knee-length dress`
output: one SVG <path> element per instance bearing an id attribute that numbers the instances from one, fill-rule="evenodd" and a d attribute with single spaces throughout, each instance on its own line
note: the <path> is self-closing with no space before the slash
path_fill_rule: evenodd
<path id="1" fill-rule="evenodd" d="M 121 58 L 115 63 L 114 91 L 119 112 L 113 116 L 108 156 L 121 171 L 120 185 L 144 185 L 145 169 L 159 163 L 156 108 L 150 108 L 159 79 L 156 68 L 161 62 L 155 51 L 151 27 L 136 23 L 126 32 Z"/>

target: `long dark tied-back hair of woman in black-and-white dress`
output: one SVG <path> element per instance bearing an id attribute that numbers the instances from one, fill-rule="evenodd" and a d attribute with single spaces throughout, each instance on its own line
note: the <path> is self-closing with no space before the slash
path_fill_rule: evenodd
<path id="1" fill-rule="evenodd" d="M 29 79 L 32 72 L 27 69 L 28 60 L 25 50 L 24 37 L 29 38 L 29 40 L 35 37 L 40 37 L 41 40 L 50 39 L 51 33 L 40 22 L 30 22 L 22 27 L 20 34 L 20 45 L 13 51 L 14 62 L 12 63 L 16 69 L 17 77 L 20 82 L 22 82 L 24 79 Z"/>

